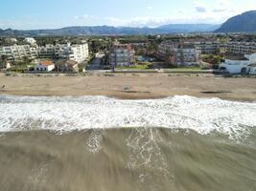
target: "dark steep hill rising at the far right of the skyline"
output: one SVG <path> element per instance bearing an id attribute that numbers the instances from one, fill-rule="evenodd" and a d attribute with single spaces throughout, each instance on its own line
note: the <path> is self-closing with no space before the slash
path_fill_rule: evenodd
<path id="1" fill-rule="evenodd" d="M 256 11 L 229 18 L 216 32 L 256 32 Z"/>

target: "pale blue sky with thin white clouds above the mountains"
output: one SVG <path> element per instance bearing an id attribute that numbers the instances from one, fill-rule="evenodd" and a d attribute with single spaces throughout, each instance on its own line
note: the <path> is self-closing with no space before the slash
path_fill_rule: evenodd
<path id="1" fill-rule="evenodd" d="M 171 23 L 220 24 L 255 0 L 2 0 L 0 28 L 66 26 L 157 27 Z"/>

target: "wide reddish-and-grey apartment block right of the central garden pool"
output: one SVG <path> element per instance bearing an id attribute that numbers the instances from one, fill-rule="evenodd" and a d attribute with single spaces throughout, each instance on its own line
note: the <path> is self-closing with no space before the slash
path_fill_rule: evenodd
<path id="1" fill-rule="evenodd" d="M 195 45 L 181 41 L 164 41 L 158 46 L 158 57 L 175 66 L 198 65 L 199 51 Z"/>

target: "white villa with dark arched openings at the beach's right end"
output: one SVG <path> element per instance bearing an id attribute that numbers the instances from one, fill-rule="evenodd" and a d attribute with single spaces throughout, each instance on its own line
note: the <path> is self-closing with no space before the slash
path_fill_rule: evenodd
<path id="1" fill-rule="evenodd" d="M 229 57 L 221 63 L 220 70 L 229 74 L 256 74 L 256 53 Z"/>

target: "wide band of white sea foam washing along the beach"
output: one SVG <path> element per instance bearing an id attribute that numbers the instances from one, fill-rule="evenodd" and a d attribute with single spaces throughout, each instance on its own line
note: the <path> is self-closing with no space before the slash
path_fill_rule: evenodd
<path id="1" fill-rule="evenodd" d="M 0 96 L 0 131 L 164 127 L 200 134 L 247 133 L 256 126 L 256 103 L 172 96 L 119 100 L 105 96 Z"/>

